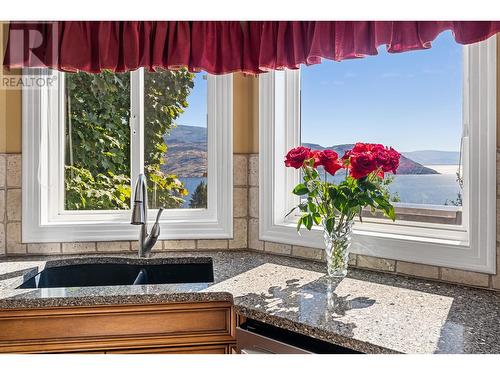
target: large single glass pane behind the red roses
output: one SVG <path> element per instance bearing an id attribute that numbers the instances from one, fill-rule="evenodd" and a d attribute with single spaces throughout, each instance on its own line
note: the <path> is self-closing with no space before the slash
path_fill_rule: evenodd
<path id="1" fill-rule="evenodd" d="M 445 33 L 429 50 L 382 47 L 378 56 L 303 67 L 302 143 L 340 156 L 355 142 L 393 146 L 403 154 L 388 176 L 398 206 L 437 206 L 453 217 L 443 222 L 459 223 L 462 59 L 463 47 Z"/>

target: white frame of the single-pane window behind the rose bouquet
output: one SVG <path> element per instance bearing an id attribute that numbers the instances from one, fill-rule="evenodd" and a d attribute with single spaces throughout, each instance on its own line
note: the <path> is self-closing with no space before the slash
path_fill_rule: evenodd
<path id="1" fill-rule="evenodd" d="M 492 37 L 464 47 L 463 224 L 356 222 L 353 253 L 495 273 L 496 43 Z M 283 164 L 286 152 L 300 144 L 300 72 L 263 74 L 259 90 L 259 237 L 322 248 L 321 228 L 302 229 L 298 235 L 295 219 L 284 219 L 297 203 L 291 189 L 300 178 Z"/>

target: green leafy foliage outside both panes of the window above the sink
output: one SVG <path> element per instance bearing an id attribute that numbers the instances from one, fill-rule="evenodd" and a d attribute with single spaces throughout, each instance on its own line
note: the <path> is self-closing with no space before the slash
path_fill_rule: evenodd
<path id="1" fill-rule="evenodd" d="M 163 134 L 188 106 L 194 75 L 180 70 L 145 74 L 145 171 L 157 206 L 179 207 L 187 191 L 161 171 Z M 66 75 L 66 209 L 130 206 L 130 75 Z"/>

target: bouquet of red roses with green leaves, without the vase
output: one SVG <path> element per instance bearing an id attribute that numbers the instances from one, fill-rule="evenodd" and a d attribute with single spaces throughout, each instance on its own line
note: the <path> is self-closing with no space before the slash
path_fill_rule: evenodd
<path id="1" fill-rule="evenodd" d="M 361 219 L 362 209 L 367 206 L 395 220 L 383 180 L 385 173 L 396 173 L 400 156 L 392 147 L 372 143 L 356 143 L 342 157 L 333 150 L 302 146 L 290 150 L 285 166 L 303 171 L 303 182 L 295 186 L 293 193 L 305 199 L 288 213 L 300 210 L 297 230 L 302 225 L 310 230 L 314 224 L 322 223 L 331 235 L 346 222 L 352 222 L 356 215 Z M 320 167 L 324 169 L 323 179 Z M 333 176 L 341 170 L 346 173 L 345 180 L 338 184 L 328 182 L 327 174 Z"/>

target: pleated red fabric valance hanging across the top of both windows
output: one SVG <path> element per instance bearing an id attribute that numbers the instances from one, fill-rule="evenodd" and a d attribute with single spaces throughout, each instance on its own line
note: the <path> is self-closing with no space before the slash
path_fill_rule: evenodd
<path id="1" fill-rule="evenodd" d="M 11 23 L 4 65 L 90 73 L 144 67 L 212 74 L 297 69 L 430 48 L 443 31 L 457 43 L 485 40 L 498 21 L 59 21 Z"/>

